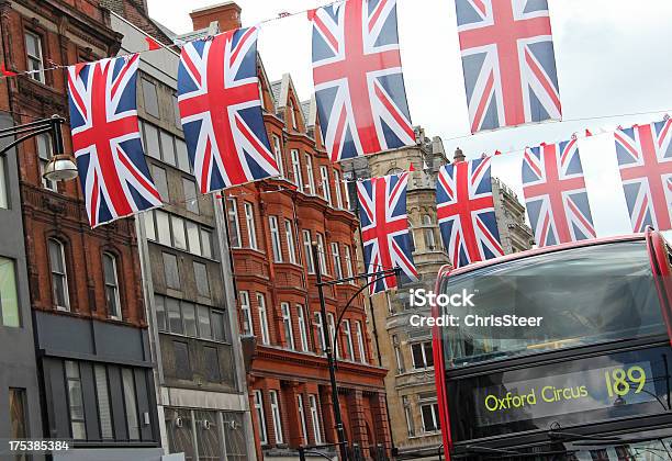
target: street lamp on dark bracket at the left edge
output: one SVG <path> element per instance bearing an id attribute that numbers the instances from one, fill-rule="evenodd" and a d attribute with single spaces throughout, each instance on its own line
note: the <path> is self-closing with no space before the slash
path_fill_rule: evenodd
<path id="1" fill-rule="evenodd" d="M 75 160 L 71 156 L 64 153 L 61 132 L 64 122 L 64 117 L 53 115 L 51 119 L 42 119 L 23 125 L 0 130 L 0 139 L 15 137 L 14 140 L 0 149 L 0 157 L 4 157 L 11 148 L 24 140 L 42 133 L 48 133 L 52 135 L 54 151 L 52 153 L 49 162 L 44 169 L 44 178 L 49 181 L 69 181 L 77 178 L 78 172 Z"/>

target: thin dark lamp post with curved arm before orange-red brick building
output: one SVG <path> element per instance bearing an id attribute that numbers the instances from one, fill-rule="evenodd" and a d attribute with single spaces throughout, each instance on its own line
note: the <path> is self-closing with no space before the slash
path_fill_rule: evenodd
<path id="1" fill-rule="evenodd" d="M 311 249 L 313 252 L 313 267 L 315 268 L 315 285 L 317 286 L 317 293 L 320 295 L 320 312 L 322 313 L 322 337 L 325 338 L 325 355 L 327 357 L 327 363 L 329 367 L 329 381 L 332 384 L 332 406 L 334 407 L 334 419 L 335 419 L 335 424 L 336 424 L 336 436 L 338 437 L 338 447 L 340 449 L 340 459 L 343 461 L 347 461 L 348 460 L 348 450 L 346 447 L 346 437 L 345 437 L 345 427 L 343 425 L 343 416 L 340 415 L 340 405 L 338 404 L 338 390 L 336 389 L 336 361 L 334 359 L 334 345 L 336 344 L 336 338 L 338 337 L 338 327 L 340 326 L 340 321 L 343 319 L 343 316 L 345 314 L 345 312 L 348 310 L 348 307 L 350 306 L 350 303 L 352 303 L 352 301 L 369 285 L 371 285 L 372 283 L 378 282 L 379 280 L 382 280 L 387 277 L 390 276 L 396 276 L 400 271 L 399 268 L 396 269 L 389 269 L 389 270 L 382 270 L 379 272 L 373 272 L 373 273 L 362 273 L 362 274 L 358 274 L 355 277 L 348 277 L 346 279 L 337 279 L 337 280 L 332 280 L 329 282 L 323 282 L 322 281 L 322 267 L 320 265 L 320 259 L 318 259 L 318 251 L 320 251 L 320 247 L 317 246 L 316 241 L 313 241 L 311 244 Z M 334 326 L 334 337 L 332 337 L 332 335 L 329 335 L 327 331 L 327 325 L 326 325 L 326 319 L 327 319 L 327 312 L 326 312 L 326 303 L 324 301 L 324 286 L 326 285 L 336 285 L 339 283 L 345 283 L 345 282 L 350 282 L 354 280 L 358 280 L 358 279 L 363 279 L 363 278 L 371 278 L 374 277 L 374 279 L 370 280 L 368 283 L 366 283 L 365 285 L 362 285 L 359 290 L 357 290 L 357 292 L 350 296 L 350 299 L 348 300 L 348 302 L 346 303 L 345 307 L 343 308 L 343 311 L 340 312 L 340 315 L 338 316 L 338 321 L 336 322 L 336 325 Z"/>

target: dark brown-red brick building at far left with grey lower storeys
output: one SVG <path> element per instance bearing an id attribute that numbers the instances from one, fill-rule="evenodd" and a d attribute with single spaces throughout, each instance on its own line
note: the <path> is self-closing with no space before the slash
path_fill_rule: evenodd
<path id="1" fill-rule="evenodd" d="M 68 113 L 65 71 L 43 69 L 96 60 L 120 47 L 109 12 L 97 1 L 3 2 L 0 26 L 7 68 L 35 70 L 3 86 L 16 124 Z M 91 229 L 78 183 L 42 178 L 51 149 L 44 135 L 19 146 L 20 185 L 11 191 L 21 198 L 42 393 L 27 401 L 42 403 L 42 430 L 30 437 L 71 439 L 71 450 L 58 459 L 158 459 L 134 221 Z M 25 272 L 18 273 L 21 279 Z"/>

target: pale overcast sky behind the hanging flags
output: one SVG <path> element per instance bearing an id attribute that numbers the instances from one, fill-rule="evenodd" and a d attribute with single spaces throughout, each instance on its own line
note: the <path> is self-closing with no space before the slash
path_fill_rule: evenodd
<path id="1" fill-rule="evenodd" d="M 147 0 L 149 14 L 177 33 L 192 30 L 189 11 L 217 0 Z M 243 25 L 299 12 L 328 0 L 237 0 Z M 446 150 L 461 147 L 468 158 L 494 150 L 493 175 L 523 198 L 520 150 L 569 138 L 589 127 L 594 134 L 621 124 L 648 123 L 672 114 L 672 2 L 670 0 L 549 0 L 563 117 L 546 123 L 469 136 L 469 119 L 452 0 L 397 0 L 402 63 L 411 117 Z M 305 14 L 265 23 L 259 53 L 271 80 L 290 72 L 301 99 L 312 91 L 311 29 Z M 658 113 L 616 119 L 613 114 Z M 455 139 L 456 137 L 461 137 Z M 613 136 L 580 140 L 586 188 L 600 236 L 629 233 Z"/>

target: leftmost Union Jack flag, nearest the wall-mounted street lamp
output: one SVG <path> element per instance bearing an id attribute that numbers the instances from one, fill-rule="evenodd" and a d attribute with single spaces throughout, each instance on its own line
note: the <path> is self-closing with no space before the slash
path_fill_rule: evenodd
<path id="1" fill-rule="evenodd" d="M 136 104 L 139 56 L 68 67 L 72 149 L 91 227 L 161 204 Z"/>

